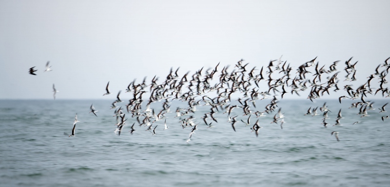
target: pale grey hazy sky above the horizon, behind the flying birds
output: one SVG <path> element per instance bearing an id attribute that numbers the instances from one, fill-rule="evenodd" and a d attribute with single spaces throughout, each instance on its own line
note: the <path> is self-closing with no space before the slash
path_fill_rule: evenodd
<path id="1" fill-rule="evenodd" d="M 184 75 L 241 58 L 261 67 L 281 55 L 294 67 L 316 56 L 326 67 L 340 60 L 339 69 L 353 57 L 366 80 L 390 57 L 389 7 L 388 0 L 0 0 L 0 99 L 52 99 L 53 83 L 57 99 L 101 99 L 108 81 L 117 93 L 135 78 L 162 80 L 170 67 Z M 47 61 L 53 71 L 43 73 Z M 28 74 L 33 66 L 37 76 Z"/>

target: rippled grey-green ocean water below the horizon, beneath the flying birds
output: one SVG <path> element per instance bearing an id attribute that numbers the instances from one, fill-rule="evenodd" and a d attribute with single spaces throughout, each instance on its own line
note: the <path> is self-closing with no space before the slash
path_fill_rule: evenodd
<path id="1" fill-rule="evenodd" d="M 264 110 L 270 100 L 256 103 Z M 0 101 L 0 186 L 2 187 L 388 187 L 390 184 L 390 119 L 383 122 L 375 101 L 368 117 L 343 100 L 282 100 L 283 129 L 271 124 L 273 115 L 259 119 L 259 136 L 251 126 L 227 123 L 227 114 L 215 115 L 215 128 L 207 128 L 201 117 L 209 112 L 198 106 L 194 117 L 198 130 L 189 144 L 190 127 L 183 129 L 173 113 L 167 114 L 168 129 L 158 121 L 156 135 L 135 125 L 130 115 L 120 136 L 112 101 L 101 100 L 1 100 Z M 322 115 L 304 116 L 312 106 L 327 102 L 328 128 Z M 89 112 L 94 104 L 98 117 Z M 125 103 L 118 104 L 124 106 Z M 161 108 L 156 103 L 154 108 Z M 342 126 L 332 126 L 338 110 Z M 231 116 L 246 120 L 236 108 Z M 318 110 L 319 112 L 319 110 Z M 71 133 L 78 113 L 76 136 Z M 322 112 L 319 112 L 322 114 Z M 251 117 L 251 124 L 255 123 Z M 211 122 L 211 120 L 208 120 Z M 361 123 L 352 125 L 353 122 Z M 339 132 L 340 141 L 331 135 Z"/>

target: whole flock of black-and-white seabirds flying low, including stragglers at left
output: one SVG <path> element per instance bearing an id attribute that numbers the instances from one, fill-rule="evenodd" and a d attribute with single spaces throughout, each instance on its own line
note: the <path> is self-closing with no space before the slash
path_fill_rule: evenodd
<path id="1" fill-rule="evenodd" d="M 382 97 L 389 97 L 389 88 L 385 87 L 384 84 L 387 84 L 386 76 L 389 73 L 390 63 L 389 59 L 386 59 L 384 63 L 379 64 L 375 72 L 371 74 L 367 79 L 367 82 L 363 85 L 358 86 L 356 89 L 353 88 L 352 84 L 347 84 L 344 86 L 343 90 L 346 91 L 346 95 L 339 97 L 339 102 L 341 104 L 342 100 L 351 99 L 357 102 L 352 103 L 350 108 L 360 108 L 358 114 L 361 115 L 361 118 L 370 116 L 369 111 L 374 110 L 374 102 L 366 101 L 368 94 L 376 95 L 377 93 L 382 94 Z M 214 122 L 217 122 L 218 118 L 215 118 L 215 113 L 223 111 L 223 114 L 227 115 L 227 122 L 229 123 L 233 130 L 236 131 L 235 125 L 238 122 L 242 122 L 245 126 L 250 125 L 250 129 L 256 137 L 258 137 L 260 129 L 262 128 L 259 123 L 259 117 L 264 117 L 264 114 L 271 114 L 275 112 L 273 116 L 272 123 L 280 125 L 280 128 L 283 129 L 283 124 L 285 116 L 282 112 L 282 108 L 277 106 L 279 99 L 276 97 L 280 94 L 283 99 L 286 93 L 301 95 L 305 90 L 309 90 L 309 95 L 307 99 L 311 101 L 321 98 L 324 94 L 330 95 L 330 90 L 337 92 L 341 90 L 338 87 L 340 81 L 357 81 L 356 68 L 355 65 L 357 62 L 352 63 L 352 58 L 345 62 L 345 67 L 341 71 L 345 71 L 347 75 L 344 80 L 341 80 L 338 75 L 341 71 L 338 71 L 336 66 L 339 61 L 333 62 L 329 68 L 326 68 L 325 65 L 319 65 L 319 62 L 315 62 L 316 58 L 300 65 L 296 69 L 296 75 L 292 75 L 293 67 L 290 66 L 287 61 L 282 61 L 281 57 L 279 60 L 272 60 L 269 62 L 269 65 L 264 67 L 262 66 L 260 71 L 253 67 L 251 70 L 247 69 L 249 63 L 244 64 L 244 60 L 238 61 L 234 64 L 233 71 L 228 71 L 229 65 L 222 68 L 221 71 L 218 71 L 219 63 L 215 68 L 209 68 L 203 71 L 203 67 L 197 70 L 194 74 L 185 73 L 183 76 L 178 75 L 179 68 L 176 71 L 173 71 L 171 68 L 169 74 L 166 76 L 165 80 L 162 83 L 158 82 L 158 77 L 154 77 L 151 83 L 146 83 L 146 77 L 141 83 L 136 83 L 136 79 L 131 82 L 127 88 L 126 93 L 129 92 L 133 94 L 133 98 L 129 100 L 128 104 L 125 104 L 123 107 L 126 108 L 125 113 L 122 106 L 117 106 L 119 103 L 123 103 L 120 99 L 121 91 L 117 93 L 116 100 L 111 104 L 110 109 L 115 109 L 115 114 L 113 117 L 116 117 L 116 128 L 114 130 L 117 136 L 120 136 L 120 133 L 123 131 L 123 127 L 126 124 L 127 115 L 131 115 L 132 118 L 137 120 L 138 126 L 145 127 L 145 131 L 150 131 L 152 135 L 156 135 L 157 121 L 164 120 L 164 129 L 169 128 L 167 126 L 167 117 L 166 114 L 171 113 L 171 102 L 173 100 L 186 102 L 187 107 L 176 107 L 176 116 L 175 119 L 178 119 L 178 122 L 183 129 L 190 128 L 189 139 L 186 140 L 187 143 L 191 141 L 193 134 L 197 130 L 197 126 L 202 122 L 195 121 L 195 112 L 197 107 L 210 107 L 210 111 L 204 113 L 201 117 L 203 123 L 207 125 L 207 128 L 215 127 L 212 125 Z M 34 67 L 30 68 L 29 73 L 31 75 L 36 75 L 37 70 Z M 265 72 L 263 72 L 265 69 Z M 310 70 L 310 71 L 309 71 Z M 46 68 L 44 72 L 52 71 L 49 62 L 46 63 Z M 312 72 L 313 73 L 312 73 Z M 218 76 L 218 74 L 219 76 Z M 314 76 L 313 79 L 307 78 L 309 75 Z M 327 75 L 326 80 L 324 78 L 321 81 L 321 76 Z M 278 78 L 273 78 L 278 77 Z M 373 88 L 371 81 L 374 78 L 379 79 L 379 88 Z M 216 81 L 218 80 L 218 81 Z M 262 85 L 264 83 L 266 85 Z M 109 89 L 110 82 L 107 83 L 105 88 L 105 93 L 103 96 L 110 95 L 112 92 Z M 263 89 L 260 91 L 260 89 Z M 287 89 L 289 89 L 287 91 Z M 53 84 L 53 97 L 56 99 L 56 93 L 59 92 L 56 90 L 55 85 Z M 143 97 L 144 93 L 150 92 L 149 98 Z M 231 104 L 232 94 L 241 94 L 238 97 L 239 104 Z M 208 96 L 209 95 L 209 96 Z M 211 96 L 215 95 L 215 97 Z M 213 98 L 212 98 L 213 97 Z M 256 101 L 269 99 L 270 103 L 267 104 L 264 110 L 253 109 L 256 108 Z M 147 102 L 146 108 L 143 108 L 144 102 Z M 161 102 L 162 107 L 160 109 L 152 108 L 151 105 L 156 102 Z M 387 112 L 385 106 L 388 103 L 384 104 L 379 108 L 380 113 Z M 155 105 L 155 104 L 154 104 Z M 237 109 L 236 109 L 237 108 Z M 232 115 L 237 112 L 237 110 L 242 110 L 242 116 L 240 120 L 237 120 L 239 115 Z M 318 107 L 310 107 L 306 114 L 317 116 L 321 115 L 318 113 Z M 323 115 L 322 125 L 327 127 L 329 124 L 326 120 L 330 119 L 328 112 L 331 112 L 328 106 L 323 104 L 322 107 L 319 107 L 319 110 Z M 235 112 L 233 112 L 235 111 Z M 96 117 L 98 110 L 95 109 L 92 104 L 90 107 L 90 113 L 93 113 Z M 254 125 L 251 123 L 251 118 L 256 118 Z M 389 115 L 382 116 L 382 121 L 389 119 Z M 341 109 L 338 112 L 338 116 L 333 126 L 342 125 L 340 120 L 343 119 L 341 114 Z M 75 116 L 75 121 L 73 123 L 72 134 L 64 133 L 66 136 L 75 136 L 75 128 L 78 123 L 77 114 Z M 360 122 L 355 122 L 357 124 Z M 133 134 L 135 129 L 136 122 L 131 126 L 129 131 Z M 155 126 L 153 126 L 155 125 Z M 331 135 L 334 135 L 336 140 L 339 141 L 338 137 L 339 132 L 332 131 Z"/>

